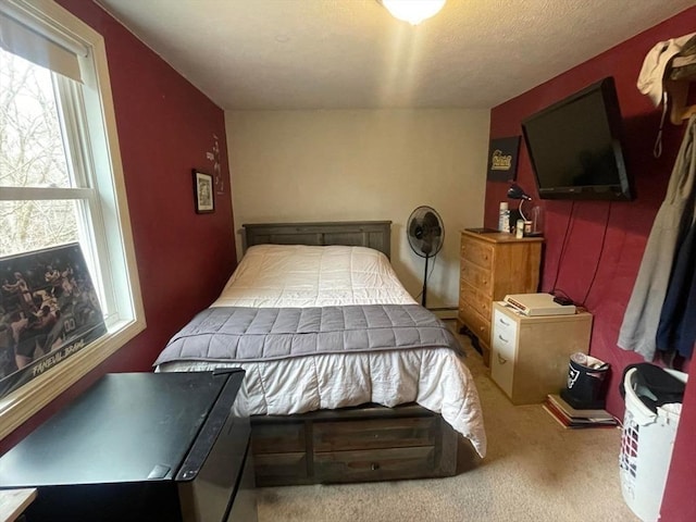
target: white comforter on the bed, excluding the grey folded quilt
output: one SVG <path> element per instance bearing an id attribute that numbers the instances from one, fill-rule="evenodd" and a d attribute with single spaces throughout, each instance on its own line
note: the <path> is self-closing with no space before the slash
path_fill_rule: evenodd
<path id="1" fill-rule="evenodd" d="M 259 245 L 248 249 L 213 307 L 326 307 L 415 301 L 387 258 L 364 247 Z M 449 349 L 323 355 L 283 361 L 181 361 L 158 371 L 247 372 L 240 413 L 291 414 L 376 402 L 418 402 L 438 412 L 486 453 L 478 394 L 469 369 Z"/>

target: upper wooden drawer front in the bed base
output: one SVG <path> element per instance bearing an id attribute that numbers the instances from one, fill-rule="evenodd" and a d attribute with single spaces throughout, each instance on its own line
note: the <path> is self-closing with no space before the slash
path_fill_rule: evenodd
<path id="1" fill-rule="evenodd" d="M 314 424 L 314 451 L 433 446 L 436 430 L 434 417 L 318 422 Z"/>

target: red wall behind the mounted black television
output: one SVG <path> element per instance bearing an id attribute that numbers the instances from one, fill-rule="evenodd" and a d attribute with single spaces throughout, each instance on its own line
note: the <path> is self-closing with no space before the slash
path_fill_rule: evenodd
<path id="1" fill-rule="evenodd" d="M 576 302 L 584 302 L 594 314 L 591 353 L 611 363 L 607 409 L 620 418 L 623 417 L 624 409 L 619 395 L 622 371 L 627 364 L 643 362 L 643 358 L 617 346 L 619 328 L 685 127 L 669 123 L 666 125 L 663 152 L 660 159 L 655 159 L 652 146 L 659 127 L 660 111 L 637 90 L 636 79 L 648 50 L 658 41 L 693 33 L 694 20 L 696 8 L 691 8 L 494 108 L 490 114 L 490 138 L 519 136 L 522 134 L 520 123 L 523 117 L 602 77 L 614 77 L 623 114 L 624 156 L 626 167 L 635 181 L 636 199 L 611 203 L 576 201 L 574 204 L 571 201 L 538 200 L 523 140 L 520 146 L 518 183 L 535 199 L 531 204 L 526 203 L 525 208 L 538 204 L 544 209 L 546 240 L 539 291 L 549 291 L 554 287 L 561 289 Z M 539 57 L 539 60 L 543 59 L 544 57 Z M 486 226 L 497 226 L 498 202 L 507 200 L 507 183 L 488 182 L 484 216 Z M 512 208 L 514 204 L 513 202 Z M 561 257 L 569 221 L 569 239 Z M 602 251 L 605 223 L 608 225 Z M 689 436 L 696 433 L 696 387 L 688 386 L 686 394 L 664 497 L 663 521 L 696 520 L 696 505 L 688 502 L 691 493 L 685 490 L 696 476 Z M 617 473 L 618 471 L 617 468 Z M 689 510 L 688 514 L 685 510 Z"/>

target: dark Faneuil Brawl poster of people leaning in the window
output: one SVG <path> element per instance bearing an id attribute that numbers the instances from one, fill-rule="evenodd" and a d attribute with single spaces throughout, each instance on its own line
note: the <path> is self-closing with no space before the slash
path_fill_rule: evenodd
<path id="1" fill-rule="evenodd" d="M 0 258 L 0 397 L 105 332 L 78 244 Z"/>

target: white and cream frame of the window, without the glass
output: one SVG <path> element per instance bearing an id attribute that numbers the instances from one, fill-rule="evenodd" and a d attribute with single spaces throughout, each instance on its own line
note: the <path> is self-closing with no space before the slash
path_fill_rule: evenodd
<path id="1" fill-rule="evenodd" d="M 94 207 L 97 211 L 91 211 L 90 219 L 100 221 L 105 234 L 96 235 L 92 251 L 109 309 L 107 335 L 0 399 L 0 438 L 3 438 L 142 332 L 146 322 L 103 37 L 52 0 L 0 0 L 0 11 L 27 23 L 35 22 L 33 28 L 65 35 L 87 49 L 87 55 L 79 57 L 87 128 L 72 139 L 87 147 L 95 186 L 70 190 L 78 190 L 75 195 L 88 190 L 90 198 L 101 202 Z M 67 109 L 69 113 L 75 110 Z M 2 188 L 0 199 L 16 199 L 20 192 L 26 199 L 25 190 L 36 191 L 39 199 L 64 199 L 41 188 Z M 85 252 L 86 257 L 91 254 Z"/>

